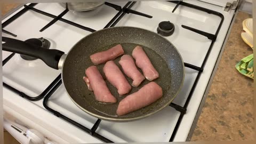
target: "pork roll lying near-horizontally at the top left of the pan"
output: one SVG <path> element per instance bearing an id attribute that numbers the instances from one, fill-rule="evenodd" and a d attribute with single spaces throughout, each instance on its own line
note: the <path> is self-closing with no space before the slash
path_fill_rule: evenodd
<path id="1" fill-rule="evenodd" d="M 101 63 L 105 63 L 109 60 L 114 60 L 122 54 L 124 54 L 123 47 L 121 44 L 118 44 L 106 51 L 97 52 L 90 55 L 90 59 L 94 63 L 94 65 L 98 65 Z"/>

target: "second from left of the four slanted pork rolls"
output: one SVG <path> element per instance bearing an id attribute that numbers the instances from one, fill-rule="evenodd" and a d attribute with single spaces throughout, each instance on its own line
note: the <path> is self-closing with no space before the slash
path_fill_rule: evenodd
<path id="1" fill-rule="evenodd" d="M 114 61 L 108 61 L 103 67 L 107 80 L 116 87 L 119 95 L 129 93 L 132 86 Z"/>

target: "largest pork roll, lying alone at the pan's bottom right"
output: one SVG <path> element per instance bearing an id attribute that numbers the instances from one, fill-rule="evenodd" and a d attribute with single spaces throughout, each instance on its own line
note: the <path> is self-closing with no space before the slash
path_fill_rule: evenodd
<path id="1" fill-rule="evenodd" d="M 117 115 L 122 116 L 141 109 L 162 98 L 162 88 L 155 82 L 150 82 L 135 93 L 132 93 L 119 102 Z"/>

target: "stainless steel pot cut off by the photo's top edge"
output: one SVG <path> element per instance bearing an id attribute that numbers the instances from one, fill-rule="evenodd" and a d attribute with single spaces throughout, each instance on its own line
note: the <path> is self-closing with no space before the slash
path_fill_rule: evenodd
<path id="1" fill-rule="evenodd" d="M 90 11 L 103 5 L 105 2 L 74 2 L 68 3 L 68 9 L 74 11 Z M 66 8 L 66 3 L 59 3 Z"/>

